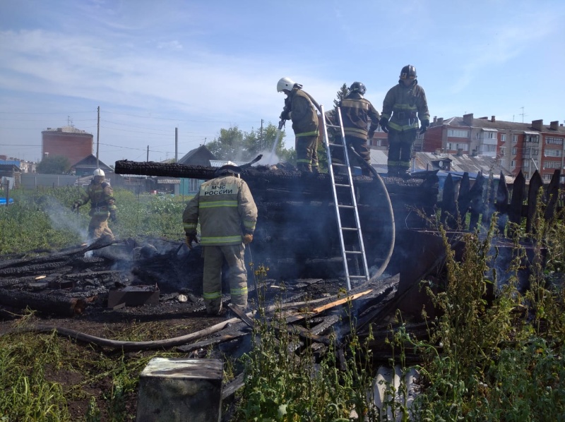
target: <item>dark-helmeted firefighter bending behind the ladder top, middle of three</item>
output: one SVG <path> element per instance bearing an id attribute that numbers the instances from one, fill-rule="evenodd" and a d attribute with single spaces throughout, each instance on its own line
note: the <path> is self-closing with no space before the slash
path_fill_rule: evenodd
<path id="1" fill-rule="evenodd" d="M 345 133 L 347 147 L 351 145 L 355 152 L 370 166 L 371 152 L 367 145 L 367 138 L 373 138 L 376 128 L 379 127 L 381 116 L 379 116 L 379 111 L 376 111 L 373 104 L 363 97 L 365 92 L 367 92 L 367 88 L 365 88 L 364 84 L 360 82 L 352 83 L 349 92 L 339 102 L 338 107 L 341 109 L 343 132 Z M 329 117 L 333 122 L 336 122 L 338 119 L 338 116 L 335 116 L 335 110 L 329 112 Z M 369 119 L 371 119 L 370 127 Z M 369 127 L 368 132 L 367 127 Z M 343 152 L 338 150 L 335 156 L 339 159 L 343 157 Z M 364 176 L 371 174 L 371 171 L 364 166 L 361 166 L 361 171 Z"/>

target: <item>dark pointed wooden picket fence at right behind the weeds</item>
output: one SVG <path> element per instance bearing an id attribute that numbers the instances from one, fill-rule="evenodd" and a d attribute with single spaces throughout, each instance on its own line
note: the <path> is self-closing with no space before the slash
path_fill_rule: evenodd
<path id="1" fill-rule="evenodd" d="M 557 212 L 560 177 L 561 171 L 555 170 L 552 180 L 544 185 L 540 173 L 535 171 L 527 184 L 520 171 L 514 183 L 509 186 L 503 174 L 498 183 L 495 183 L 492 174 L 488 178 L 479 174 L 471 186 L 469 174 L 465 173 L 457 190 L 457 183 L 449 174 L 439 203 L 441 222 L 450 229 L 457 229 L 462 222 L 466 226 L 465 222 L 468 221 L 468 227 L 464 228 L 474 230 L 479 222 L 482 227 L 488 227 L 492 215 L 498 212 L 497 225 L 501 234 L 504 234 L 507 222 L 521 224 L 524 218 L 525 229 L 531 233 L 540 198 L 545 204 L 545 219 L 551 219 Z"/>

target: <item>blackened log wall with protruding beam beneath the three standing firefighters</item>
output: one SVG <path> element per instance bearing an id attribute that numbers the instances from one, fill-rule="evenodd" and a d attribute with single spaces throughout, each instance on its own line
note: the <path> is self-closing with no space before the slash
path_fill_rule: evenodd
<path id="1" fill-rule="evenodd" d="M 121 160 L 115 163 L 116 174 L 122 175 L 207 180 L 215 177 L 215 170 L 215 167 L 157 162 Z M 256 263 L 278 271 L 270 274 L 275 278 L 339 277 L 342 267 L 339 262 L 337 265 L 313 265 L 316 260 L 341 256 L 331 175 L 258 165 L 242 169 L 241 176 L 249 185 L 258 207 L 256 233 L 251 244 Z M 421 179 L 384 178 L 383 181 L 391 198 L 394 219 L 400 223 L 396 224 L 396 239 L 401 237 L 399 230 L 424 227 L 426 222 L 422 215 L 433 215 L 436 205 L 436 173 L 426 173 Z M 347 176 L 336 174 L 335 182 L 348 184 Z M 369 267 L 379 266 L 390 245 L 387 239 L 391 239 L 388 198 L 379 179 L 354 176 L 353 184 L 367 261 Z M 355 225 L 348 221 L 352 215 L 340 218 L 343 227 Z M 347 243 L 347 239 L 345 241 Z M 405 265 L 404 258 L 397 254 L 395 262 L 394 256 L 391 271 L 398 272 L 398 267 Z"/>

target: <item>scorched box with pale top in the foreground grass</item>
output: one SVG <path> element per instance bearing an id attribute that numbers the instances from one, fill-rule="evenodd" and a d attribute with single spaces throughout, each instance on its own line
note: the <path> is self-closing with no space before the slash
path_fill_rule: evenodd
<path id="1" fill-rule="evenodd" d="M 219 422 L 223 363 L 153 358 L 139 375 L 137 422 Z"/>

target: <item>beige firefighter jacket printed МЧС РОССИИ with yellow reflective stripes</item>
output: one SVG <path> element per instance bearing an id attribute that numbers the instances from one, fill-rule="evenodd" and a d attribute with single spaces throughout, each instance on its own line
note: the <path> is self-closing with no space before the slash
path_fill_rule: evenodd
<path id="1" fill-rule="evenodd" d="M 242 234 L 253 234 L 257 222 L 257 207 L 247 183 L 229 175 L 202 183 L 182 215 L 186 234 L 196 233 L 198 219 L 202 246 L 241 244 Z"/>

